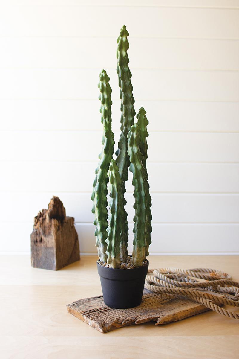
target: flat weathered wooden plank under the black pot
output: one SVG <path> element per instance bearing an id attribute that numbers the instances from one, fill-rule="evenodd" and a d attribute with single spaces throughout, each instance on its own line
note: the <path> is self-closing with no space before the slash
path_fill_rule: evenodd
<path id="1" fill-rule="evenodd" d="M 77 300 L 67 311 L 101 333 L 132 324 L 156 322 L 166 324 L 208 311 L 202 304 L 180 295 L 157 294 L 144 289 L 142 303 L 129 309 L 107 307 L 102 295 Z"/>

